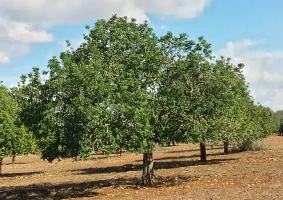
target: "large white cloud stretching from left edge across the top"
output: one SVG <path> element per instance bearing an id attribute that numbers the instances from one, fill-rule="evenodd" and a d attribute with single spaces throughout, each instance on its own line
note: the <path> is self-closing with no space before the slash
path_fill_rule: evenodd
<path id="1" fill-rule="evenodd" d="M 160 17 L 193 18 L 210 0 L 1 0 L 0 64 L 24 55 L 32 43 L 52 40 L 47 29 L 55 24 L 109 18 L 113 13 L 148 20 Z"/>

